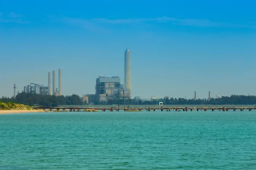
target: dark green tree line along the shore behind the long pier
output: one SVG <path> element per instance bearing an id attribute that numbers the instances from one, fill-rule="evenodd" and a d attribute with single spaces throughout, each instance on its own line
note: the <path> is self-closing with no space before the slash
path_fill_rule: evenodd
<path id="1" fill-rule="evenodd" d="M 2 102 L 13 102 L 24 105 L 40 105 L 45 107 L 57 107 L 58 105 L 86 105 L 79 95 L 71 96 L 51 96 L 41 94 L 20 93 L 15 98 L 2 97 Z M 163 99 L 152 99 L 151 101 L 135 101 L 134 99 L 108 99 L 105 103 L 95 103 L 96 105 L 156 105 L 157 101 L 163 101 L 164 105 L 256 105 L 256 96 L 231 95 L 211 99 L 184 99 L 169 96 Z"/>

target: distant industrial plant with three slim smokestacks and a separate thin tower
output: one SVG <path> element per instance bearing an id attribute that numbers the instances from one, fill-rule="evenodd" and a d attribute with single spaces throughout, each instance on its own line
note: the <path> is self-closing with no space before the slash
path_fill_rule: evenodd
<path id="1" fill-rule="evenodd" d="M 48 73 L 48 86 L 30 83 L 30 85 L 24 86 L 24 93 L 43 94 L 43 95 L 55 95 L 61 96 L 61 69 L 58 70 L 58 88 L 55 88 L 55 71 L 52 71 L 52 87 L 51 87 L 51 73 Z M 51 93 L 52 91 L 52 93 Z M 16 84 L 15 84 L 16 95 Z"/>

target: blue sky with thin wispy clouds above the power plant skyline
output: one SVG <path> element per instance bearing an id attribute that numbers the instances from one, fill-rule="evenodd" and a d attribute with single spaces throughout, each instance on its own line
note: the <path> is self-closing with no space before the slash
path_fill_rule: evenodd
<path id="1" fill-rule="evenodd" d="M 94 94 L 131 50 L 132 96 L 256 94 L 256 1 L 1 0 L 0 96 L 62 69 L 62 94 Z M 58 83 L 58 81 L 56 81 Z M 57 87 L 57 86 L 56 86 Z"/>

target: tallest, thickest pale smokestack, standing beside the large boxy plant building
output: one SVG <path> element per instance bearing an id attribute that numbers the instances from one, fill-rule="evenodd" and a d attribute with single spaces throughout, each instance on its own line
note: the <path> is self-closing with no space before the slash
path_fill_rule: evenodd
<path id="1" fill-rule="evenodd" d="M 129 49 L 125 51 L 125 88 L 129 89 L 131 99 L 131 51 Z"/>

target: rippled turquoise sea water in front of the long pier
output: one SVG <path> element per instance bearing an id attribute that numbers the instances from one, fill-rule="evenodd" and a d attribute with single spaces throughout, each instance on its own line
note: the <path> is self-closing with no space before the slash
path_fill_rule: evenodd
<path id="1" fill-rule="evenodd" d="M 255 170 L 256 112 L 0 115 L 0 170 Z"/>

